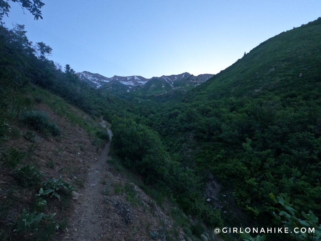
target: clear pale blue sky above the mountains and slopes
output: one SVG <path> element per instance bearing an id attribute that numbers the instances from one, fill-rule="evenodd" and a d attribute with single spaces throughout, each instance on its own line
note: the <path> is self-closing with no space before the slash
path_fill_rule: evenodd
<path id="1" fill-rule="evenodd" d="M 244 51 L 317 19 L 321 1 L 54 0 L 43 20 L 11 3 L 7 27 L 25 24 L 49 59 L 111 77 L 215 74 Z"/>

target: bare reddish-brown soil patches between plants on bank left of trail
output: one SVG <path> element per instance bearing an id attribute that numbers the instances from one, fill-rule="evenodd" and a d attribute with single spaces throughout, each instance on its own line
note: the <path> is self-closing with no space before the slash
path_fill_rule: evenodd
<path id="1" fill-rule="evenodd" d="M 23 165 L 35 166 L 46 174 L 44 180 L 62 176 L 78 189 L 85 180 L 87 165 L 94 161 L 99 153 L 97 147 L 91 144 L 91 137 L 85 130 L 71 124 L 44 104 L 39 104 L 37 108 L 47 112 L 50 119 L 59 125 L 61 137 L 57 140 L 52 135 L 44 135 L 19 122 L 9 123 L 18 134 L 5 142 L 3 148 L 14 147 L 26 153 L 26 157 L 15 169 L 0 163 L 0 234 L 4 233 L 10 240 L 20 240 L 13 229 L 20 220 L 23 209 L 28 212 L 33 210 L 35 194 L 41 187 L 41 184 L 23 187 L 14 177 L 17 168 Z M 23 137 L 27 131 L 33 131 L 37 135 L 36 142 L 30 142 Z M 62 196 L 60 201 L 48 197 L 47 203 L 43 212 L 56 213 L 56 220 L 63 221 L 69 212 L 69 197 Z"/>

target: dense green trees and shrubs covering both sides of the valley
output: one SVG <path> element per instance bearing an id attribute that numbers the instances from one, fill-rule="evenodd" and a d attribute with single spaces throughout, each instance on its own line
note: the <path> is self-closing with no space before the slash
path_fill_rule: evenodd
<path id="1" fill-rule="evenodd" d="M 64 72 L 57 68 L 45 58 L 50 48 L 43 43 L 37 58 L 23 25 L 1 26 L 0 96 L 8 101 L 0 109 L 9 113 L 10 98 L 20 98 L 13 91 L 38 85 L 93 117 L 104 116 L 112 122 L 112 151 L 123 165 L 209 227 L 278 225 L 269 193 L 287 195 L 299 212 L 321 217 L 320 40 L 318 19 L 261 43 L 187 94 L 121 99 L 80 82 L 68 65 Z M 2 115 L 0 124 L 8 118 Z M 22 119 L 59 135 L 41 113 Z M 106 133 L 92 133 L 108 140 Z M 222 215 L 224 222 L 219 207 L 209 206 L 202 194 L 210 174 L 232 193 L 220 203 L 231 213 Z M 235 215 L 238 208 L 242 212 Z M 195 225 L 195 234 L 199 229 Z"/>

